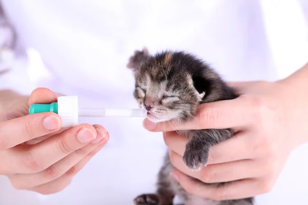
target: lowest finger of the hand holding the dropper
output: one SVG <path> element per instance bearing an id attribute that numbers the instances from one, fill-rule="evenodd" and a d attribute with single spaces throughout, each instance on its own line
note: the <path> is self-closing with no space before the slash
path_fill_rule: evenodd
<path id="1" fill-rule="evenodd" d="M 95 148 L 92 152 L 90 152 L 86 157 L 84 157 L 80 162 L 78 162 L 74 167 L 72 167 L 69 171 L 67 171 L 61 177 L 49 182 L 44 185 L 37 186 L 32 191 L 41 193 L 41 194 L 52 194 L 56 192 L 60 192 L 65 189 L 71 182 L 72 178 L 84 168 L 84 166 L 90 161 L 90 159 L 97 154 L 102 148 L 103 145 L 99 145 L 99 147 Z"/>

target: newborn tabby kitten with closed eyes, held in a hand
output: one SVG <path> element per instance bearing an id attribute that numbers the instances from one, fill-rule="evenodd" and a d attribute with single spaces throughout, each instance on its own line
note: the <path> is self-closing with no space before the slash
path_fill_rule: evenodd
<path id="1" fill-rule="evenodd" d="M 196 56 L 185 52 L 161 52 L 150 56 L 147 49 L 135 51 L 127 67 L 134 71 L 133 96 L 147 111 L 147 118 L 154 122 L 172 120 L 187 122 L 194 119 L 202 103 L 234 99 L 235 91 L 219 75 Z M 233 136 L 231 129 L 206 129 L 178 131 L 189 137 L 183 161 L 190 170 L 206 166 L 209 148 Z M 138 205 L 171 205 L 175 195 L 185 204 L 252 205 L 253 198 L 213 201 L 187 193 L 170 176 L 174 170 L 165 156 L 157 183 L 156 194 L 143 194 L 134 199 Z M 211 186 L 223 186 L 213 183 Z"/>

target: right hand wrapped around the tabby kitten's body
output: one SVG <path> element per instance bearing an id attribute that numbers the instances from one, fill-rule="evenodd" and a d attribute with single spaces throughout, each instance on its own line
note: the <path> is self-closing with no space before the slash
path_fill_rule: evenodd
<path id="1" fill-rule="evenodd" d="M 172 176 L 190 194 L 213 200 L 240 199 L 269 192 L 288 155 L 308 141 L 306 88 L 277 83 L 232 83 L 239 97 L 200 106 L 193 120 L 185 125 L 153 122 L 144 127 L 152 132 L 167 131 L 164 140 L 176 170 Z M 208 165 L 190 171 L 182 157 L 187 137 L 174 130 L 232 128 L 235 136 L 213 146 Z M 205 183 L 188 177 L 197 178 Z M 206 183 L 229 182 L 225 186 Z"/>

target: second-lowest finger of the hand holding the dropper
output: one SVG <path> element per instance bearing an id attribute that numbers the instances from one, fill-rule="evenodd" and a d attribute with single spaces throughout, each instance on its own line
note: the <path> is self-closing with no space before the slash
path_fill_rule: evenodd
<path id="1" fill-rule="evenodd" d="M 58 177 L 61 177 L 64 173 L 66 173 L 69 169 L 71 169 L 74 165 L 81 161 L 95 148 L 99 147 L 102 144 L 105 145 L 109 139 L 109 136 L 103 138 L 104 133 L 102 133 L 99 128 L 95 129 L 97 129 L 98 132 L 97 138 L 101 139 L 98 143 L 88 144 L 85 147 L 74 151 L 73 153 L 64 157 L 60 161 L 57 161 L 42 172 L 38 172 L 35 174 L 15 174 L 11 176 L 10 180 L 14 188 L 18 190 L 28 190 L 33 187 L 43 185 L 44 183 L 48 183 Z"/>

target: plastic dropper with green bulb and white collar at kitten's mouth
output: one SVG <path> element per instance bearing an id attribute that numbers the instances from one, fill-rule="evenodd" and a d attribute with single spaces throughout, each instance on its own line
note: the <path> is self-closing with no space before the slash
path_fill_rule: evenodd
<path id="1" fill-rule="evenodd" d="M 51 104 L 33 104 L 29 114 L 53 112 L 61 116 L 62 127 L 74 127 L 78 117 L 146 117 L 144 109 L 91 109 L 79 108 L 78 96 L 61 96 Z"/>

